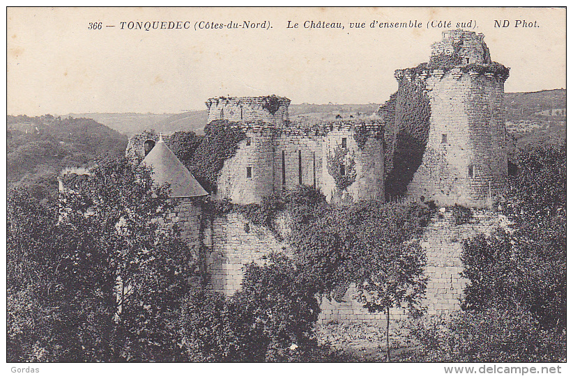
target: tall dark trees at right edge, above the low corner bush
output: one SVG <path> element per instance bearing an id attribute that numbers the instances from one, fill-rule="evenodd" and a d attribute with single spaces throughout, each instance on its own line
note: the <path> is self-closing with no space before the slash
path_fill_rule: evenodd
<path id="1" fill-rule="evenodd" d="M 567 322 L 566 157 L 564 148 L 519 152 L 502 210 L 513 224 L 464 243 L 464 308 L 529 312 L 545 329 Z"/>

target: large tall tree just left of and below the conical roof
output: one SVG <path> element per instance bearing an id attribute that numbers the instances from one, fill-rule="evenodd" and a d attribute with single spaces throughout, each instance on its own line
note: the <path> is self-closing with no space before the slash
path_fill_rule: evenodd
<path id="1" fill-rule="evenodd" d="M 125 157 L 98 159 L 90 173 L 64 195 L 59 225 L 70 234 L 59 278 L 83 356 L 172 360 L 192 255 L 160 225 L 173 206 L 168 188 Z"/>

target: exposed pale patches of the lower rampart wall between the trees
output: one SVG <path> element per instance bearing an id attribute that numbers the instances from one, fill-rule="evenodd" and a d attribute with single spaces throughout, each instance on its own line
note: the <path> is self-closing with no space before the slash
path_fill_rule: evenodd
<path id="1" fill-rule="evenodd" d="M 277 228 L 283 239 L 289 231 L 288 221 L 286 213 L 281 213 L 277 219 Z M 462 242 L 481 233 L 492 233 L 501 221 L 503 219 L 497 214 L 486 210 L 475 210 L 470 223 L 463 225 L 455 224 L 452 212 L 434 216 L 420 238 L 420 245 L 427 256 L 425 273 L 429 281 L 422 304 L 427 307 L 428 314 L 450 314 L 460 309 L 460 299 L 467 283 L 460 276 L 463 270 Z M 209 239 L 206 244 L 210 247 L 205 262 L 208 285 L 227 296 L 240 289 L 245 264 L 254 261 L 263 265 L 271 252 L 289 254 L 291 251 L 289 244 L 278 241 L 268 228 L 253 225 L 239 213 L 214 219 L 212 230 L 206 231 L 205 238 Z M 369 313 L 354 298 L 355 295 L 356 288 L 351 286 L 342 301 L 321 298 L 319 323 L 385 324 L 384 313 Z M 404 320 L 407 316 L 408 313 L 402 309 L 390 311 L 391 320 Z"/>

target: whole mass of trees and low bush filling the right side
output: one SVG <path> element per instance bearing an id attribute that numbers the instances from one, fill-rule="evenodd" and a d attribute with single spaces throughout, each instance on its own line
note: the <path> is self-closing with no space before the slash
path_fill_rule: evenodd
<path id="1" fill-rule="evenodd" d="M 464 241 L 464 312 L 413 329 L 430 361 L 564 361 L 566 155 L 519 152 L 501 211 L 512 224 Z"/>

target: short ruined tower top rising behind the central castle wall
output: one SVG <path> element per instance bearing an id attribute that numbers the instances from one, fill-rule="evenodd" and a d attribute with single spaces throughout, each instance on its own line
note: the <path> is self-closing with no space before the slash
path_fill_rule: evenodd
<path id="1" fill-rule="evenodd" d="M 267 97 L 218 97 L 205 102 L 208 122 L 213 120 L 261 120 L 282 127 L 289 120 L 291 100 L 269 95 Z"/>

